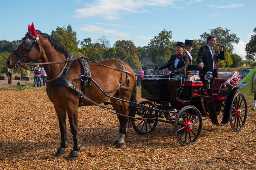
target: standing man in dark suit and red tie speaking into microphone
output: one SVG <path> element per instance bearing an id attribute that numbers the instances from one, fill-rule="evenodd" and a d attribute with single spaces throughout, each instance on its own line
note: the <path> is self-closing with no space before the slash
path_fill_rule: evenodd
<path id="1" fill-rule="evenodd" d="M 212 96 L 212 88 L 214 83 L 214 78 L 218 77 L 219 74 L 219 59 L 225 60 L 224 50 L 219 44 L 220 52 L 213 47 L 216 45 L 216 37 L 209 36 L 207 37 L 207 45 L 200 47 L 198 52 L 198 58 L 196 62 L 198 67 L 202 70 L 199 71 L 200 79 L 204 84 L 204 91 L 208 93 L 209 97 Z M 204 75 L 208 72 L 212 72 L 213 78 L 210 81 L 210 89 L 208 89 L 208 81 L 204 79 Z"/>

